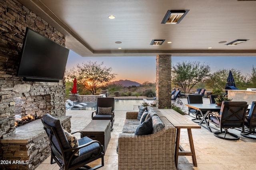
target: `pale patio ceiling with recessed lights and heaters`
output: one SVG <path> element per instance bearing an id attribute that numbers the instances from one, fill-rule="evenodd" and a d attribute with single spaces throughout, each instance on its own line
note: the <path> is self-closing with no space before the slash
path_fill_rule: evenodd
<path id="1" fill-rule="evenodd" d="M 60 30 L 66 47 L 84 57 L 256 56 L 256 1 L 18 1 Z M 190 11 L 180 24 L 161 24 L 167 10 Z M 110 15 L 116 18 L 110 20 Z M 150 45 L 153 39 L 165 42 Z M 236 39 L 248 41 L 235 46 L 218 43 Z"/>

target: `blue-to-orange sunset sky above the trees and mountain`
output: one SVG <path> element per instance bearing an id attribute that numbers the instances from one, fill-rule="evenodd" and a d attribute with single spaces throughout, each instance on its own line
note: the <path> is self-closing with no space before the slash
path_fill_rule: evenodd
<path id="1" fill-rule="evenodd" d="M 112 67 L 118 80 L 131 80 L 138 83 L 156 81 L 156 57 L 81 57 L 70 50 L 66 70 L 87 61 L 103 62 L 103 66 Z M 256 57 L 172 57 L 172 65 L 181 61 L 200 61 L 210 65 L 211 72 L 218 69 L 238 69 L 244 75 L 251 73 L 252 65 L 256 67 Z"/>

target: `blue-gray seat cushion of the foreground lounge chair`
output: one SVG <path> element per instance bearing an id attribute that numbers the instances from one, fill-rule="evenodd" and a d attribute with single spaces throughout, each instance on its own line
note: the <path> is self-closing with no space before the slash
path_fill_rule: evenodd
<path id="1" fill-rule="evenodd" d="M 92 139 L 88 138 L 87 136 L 78 139 L 79 145 L 86 144 L 90 141 L 92 141 Z M 97 154 L 99 152 L 99 149 L 100 149 L 100 145 L 98 143 L 93 143 L 84 148 L 81 148 L 80 156 L 75 157 L 71 161 L 71 165 L 77 164 L 79 162 L 84 162 L 84 160 L 90 158 L 92 156 L 92 154 Z"/>

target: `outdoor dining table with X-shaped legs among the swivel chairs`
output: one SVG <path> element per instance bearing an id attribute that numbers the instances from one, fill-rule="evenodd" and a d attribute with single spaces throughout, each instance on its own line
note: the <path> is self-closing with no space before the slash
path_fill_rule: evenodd
<path id="1" fill-rule="evenodd" d="M 200 125 L 201 127 L 207 128 L 210 132 L 212 132 L 212 130 L 210 129 L 210 127 L 208 127 L 207 121 L 206 121 L 206 117 L 208 116 L 208 114 L 211 111 L 216 111 L 220 113 L 220 109 L 221 106 L 217 106 L 215 103 L 201 103 L 201 104 L 185 104 L 187 107 L 196 109 L 198 111 L 200 111 L 202 119 L 201 121 L 198 123 L 198 125 Z M 248 110 L 250 110 L 251 105 L 248 105 Z M 203 111 L 206 111 L 205 114 L 203 114 Z M 202 123 L 205 123 L 205 126 L 202 125 Z"/>

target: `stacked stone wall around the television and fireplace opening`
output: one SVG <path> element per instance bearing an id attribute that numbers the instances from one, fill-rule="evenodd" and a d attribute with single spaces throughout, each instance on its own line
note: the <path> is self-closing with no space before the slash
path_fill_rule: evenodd
<path id="1" fill-rule="evenodd" d="M 52 109 L 48 113 L 66 115 L 64 81 L 28 82 L 16 76 L 26 27 L 61 45 L 65 44 L 63 34 L 18 1 L 0 0 L 0 140 L 15 133 L 14 105 L 17 97 L 49 95 Z"/>

